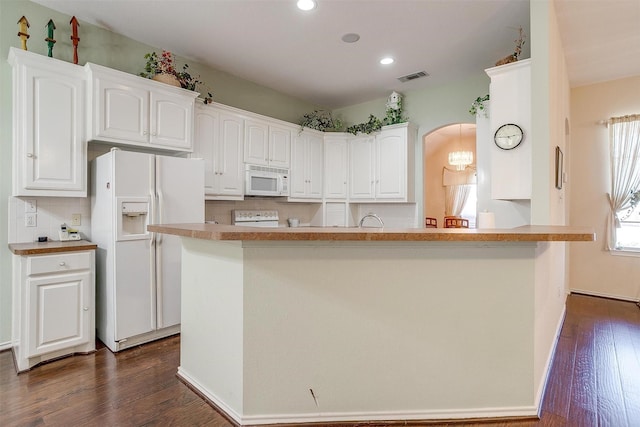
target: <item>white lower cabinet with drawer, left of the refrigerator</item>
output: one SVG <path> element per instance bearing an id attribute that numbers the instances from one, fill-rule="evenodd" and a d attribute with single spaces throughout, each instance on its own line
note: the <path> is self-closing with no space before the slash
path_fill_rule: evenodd
<path id="1" fill-rule="evenodd" d="M 95 350 L 93 250 L 14 256 L 14 352 L 18 371 Z"/>

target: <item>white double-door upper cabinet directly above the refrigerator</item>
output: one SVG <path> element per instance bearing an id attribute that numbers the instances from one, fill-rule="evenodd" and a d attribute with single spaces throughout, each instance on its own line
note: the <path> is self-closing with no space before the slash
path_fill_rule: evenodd
<path id="1" fill-rule="evenodd" d="M 196 92 L 95 64 L 90 74 L 92 140 L 174 151 L 193 149 Z"/>

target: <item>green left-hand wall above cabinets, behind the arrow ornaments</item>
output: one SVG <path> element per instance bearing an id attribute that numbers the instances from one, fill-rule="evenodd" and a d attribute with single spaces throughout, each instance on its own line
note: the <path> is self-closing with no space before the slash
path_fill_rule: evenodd
<path id="1" fill-rule="evenodd" d="M 70 40 L 71 16 L 32 3 L 28 0 L 0 0 L 0 347 L 11 340 L 11 253 L 7 248 L 8 199 L 11 196 L 12 114 L 11 67 L 7 56 L 11 46 L 20 47 L 17 22 L 26 16 L 31 27 L 27 48 L 31 52 L 46 55 L 45 25 L 49 19 L 56 24 L 53 56 L 73 61 Z M 78 58 L 86 62 L 104 65 L 132 74 L 143 70 L 144 54 L 160 52 L 162 47 L 149 46 L 108 30 L 80 22 Z M 281 120 L 297 123 L 299 118 L 318 106 L 292 98 L 272 89 L 239 79 L 230 74 L 213 70 L 193 61 L 177 57 L 178 64 L 185 62 L 194 75 L 200 75 L 214 95 L 214 100 L 243 110 L 253 111 Z"/>

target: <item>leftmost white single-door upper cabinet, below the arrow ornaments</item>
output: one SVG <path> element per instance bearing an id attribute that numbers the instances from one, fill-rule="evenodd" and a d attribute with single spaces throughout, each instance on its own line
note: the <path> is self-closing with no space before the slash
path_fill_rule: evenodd
<path id="1" fill-rule="evenodd" d="M 16 48 L 13 195 L 87 196 L 86 79 L 82 67 Z"/>

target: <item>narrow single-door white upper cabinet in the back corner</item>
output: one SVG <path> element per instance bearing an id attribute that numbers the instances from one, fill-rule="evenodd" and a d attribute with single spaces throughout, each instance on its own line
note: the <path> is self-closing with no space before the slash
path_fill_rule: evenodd
<path id="1" fill-rule="evenodd" d="M 346 135 L 326 134 L 324 138 L 324 197 L 347 198 L 349 179 L 349 139 Z"/>

